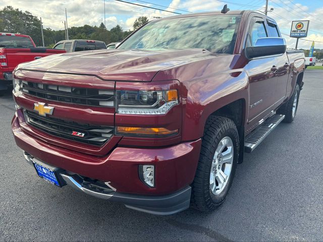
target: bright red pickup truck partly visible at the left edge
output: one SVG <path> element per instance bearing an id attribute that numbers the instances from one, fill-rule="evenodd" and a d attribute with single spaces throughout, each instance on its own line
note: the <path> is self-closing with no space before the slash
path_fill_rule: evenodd
<path id="1" fill-rule="evenodd" d="M 12 84 L 12 71 L 18 64 L 65 52 L 65 50 L 37 48 L 28 35 L 0 33 L 0 95 Z"/>

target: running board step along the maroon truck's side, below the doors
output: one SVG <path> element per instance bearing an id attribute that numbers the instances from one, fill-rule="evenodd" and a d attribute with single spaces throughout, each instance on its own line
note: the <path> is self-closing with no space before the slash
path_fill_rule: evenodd
<path id="1" fill-rule="evenodd" d="M 285 115 L 275 114 L 265 120 L 255 131 L 246 137 L 244 151 L 251 153 L 284 119 Z"/>

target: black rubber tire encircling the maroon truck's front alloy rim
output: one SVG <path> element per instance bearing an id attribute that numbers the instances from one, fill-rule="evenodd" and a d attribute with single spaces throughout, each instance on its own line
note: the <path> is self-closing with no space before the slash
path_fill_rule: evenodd
<path id="1" fill-rule="evenodd" d="M 229 137 L 233 143 L 233 161 L 231 173 L 223 191 L 214 195 L 210 189 L 210 172 L 213 156 L 216 149 L 225 137 Z M 219 207 L 226 199 L 235 170 L 238 163 L 239 154 L 239 135 L 233 121 L 226 117 L 210 116 L 206 120 L 204 136 L 202 138 L 202 147 L 192 184 L 191 206 L 199 211 L 211 212 Z"/>

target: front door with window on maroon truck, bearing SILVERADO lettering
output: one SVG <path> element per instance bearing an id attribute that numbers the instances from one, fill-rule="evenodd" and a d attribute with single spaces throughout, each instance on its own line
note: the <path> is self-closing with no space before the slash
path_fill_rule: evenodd
<path id="1" fill-rule="evenodd" d="M 258 38 L 268 37 L 265 20 L 252 17 L 245 46 L 253 46 Z M 248 124 L 256 124 L 271 112 L 275 103 L 276 76 L 273 72 L 275 57 L 258 57 L 246 66 L 249 75 L 249 115 Z"/>

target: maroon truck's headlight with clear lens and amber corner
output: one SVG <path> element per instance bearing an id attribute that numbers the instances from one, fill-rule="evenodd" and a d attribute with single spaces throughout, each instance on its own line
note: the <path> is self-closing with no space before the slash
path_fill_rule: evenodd
<path id="1" fill-rule="evenodd" d="M 177 90 L 117 91 L 117 112 L 124 114 L 165 114 L 178 104 Z"/>

